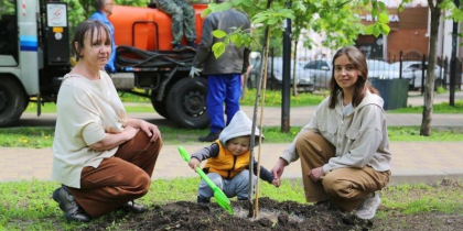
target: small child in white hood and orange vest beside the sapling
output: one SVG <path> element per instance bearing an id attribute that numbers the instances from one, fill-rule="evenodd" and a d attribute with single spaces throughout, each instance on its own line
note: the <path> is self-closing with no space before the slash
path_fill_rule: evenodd
<path id="1" fill-rule="evenodd" d="M 207 160 L 204 172 L 228 197 L 238 200 L 248 199 L 249 188 L 249 143 L 252 122 L 243 111 L 236 112 L 228 127 L 222 131 L 218 140 L 211 146 L 201 148 L 192 155 L 190 167 L 196 169 L 201 162 Z M 259 129 L 256 128 L 256 140 Z M 258 144 L 256 142 L 256 144 Z M 254 160 L 254 174 L 257 174 L 257 162 Z M 254 185 L 257 176 L 254 175 Z M 277 185 L 273 175 L 265 167 L 260 167 L 260 178 Z M 202 180 L 198 188 L 197 202 L 208 204 L 214 191 Z"/>

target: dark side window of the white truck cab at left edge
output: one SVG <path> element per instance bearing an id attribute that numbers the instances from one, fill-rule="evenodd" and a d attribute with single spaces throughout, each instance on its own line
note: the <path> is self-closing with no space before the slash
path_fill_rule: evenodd
<path id="1" fill-rule="evenodd" d="M 0 0 L 0 66 L 18 65 L 18 21 L 14 0 Z"/>

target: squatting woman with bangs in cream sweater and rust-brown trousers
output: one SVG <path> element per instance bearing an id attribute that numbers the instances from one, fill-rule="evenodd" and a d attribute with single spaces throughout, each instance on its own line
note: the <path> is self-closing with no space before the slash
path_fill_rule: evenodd
<path id="1" fill-rule="evenodd" d="M 121 208 L 143 212 L 133 199 L 148 193 L 162 146 L 158 127 L 127 118 L 111 78 L 101 69 L 111 53 L 108 29 L 80 23 L 77 65 L 64 76 L 56 102 L 53 193 L 67 220 L 89 221 Z"/>

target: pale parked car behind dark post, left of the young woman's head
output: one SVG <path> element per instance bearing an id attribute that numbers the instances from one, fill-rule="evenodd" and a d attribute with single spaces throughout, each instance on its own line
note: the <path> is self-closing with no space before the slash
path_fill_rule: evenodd
<path id="1" fill-rule="evenodd" d="M 272 65 L 272 61 L 274 63 L 273 65 Z M 260 75 L 260 65 L 261 65 L 260 56 L 255 56 L 255 57 L 251 56 L 250 63 L 252 65 L 252 69 L 249 74 L 248 87 L 255 88 L 257 87 L 257 77 Z M 293 70 L 294 70 L 292 65 L 293 65 L 293 62 L 291 61 L 291 78 L 290 78 L 291 87 L 293 85 L 292 77 L 293 77 Z M 272 72 L 272 67 L 273 67 L 273 72 Z M 269 57 L 267 72 L 268 72 L 267 87 L 269 89 L 281 89 L 282 79 L 283 79 L 282 57 L 273 57 L 273 58 Z M 295 82 L 297 82 L 299 91 L 313 92 L 315 90 L 313 78 L 310 77 L 309 74 L 300 65 L 295 65 Z"/>

